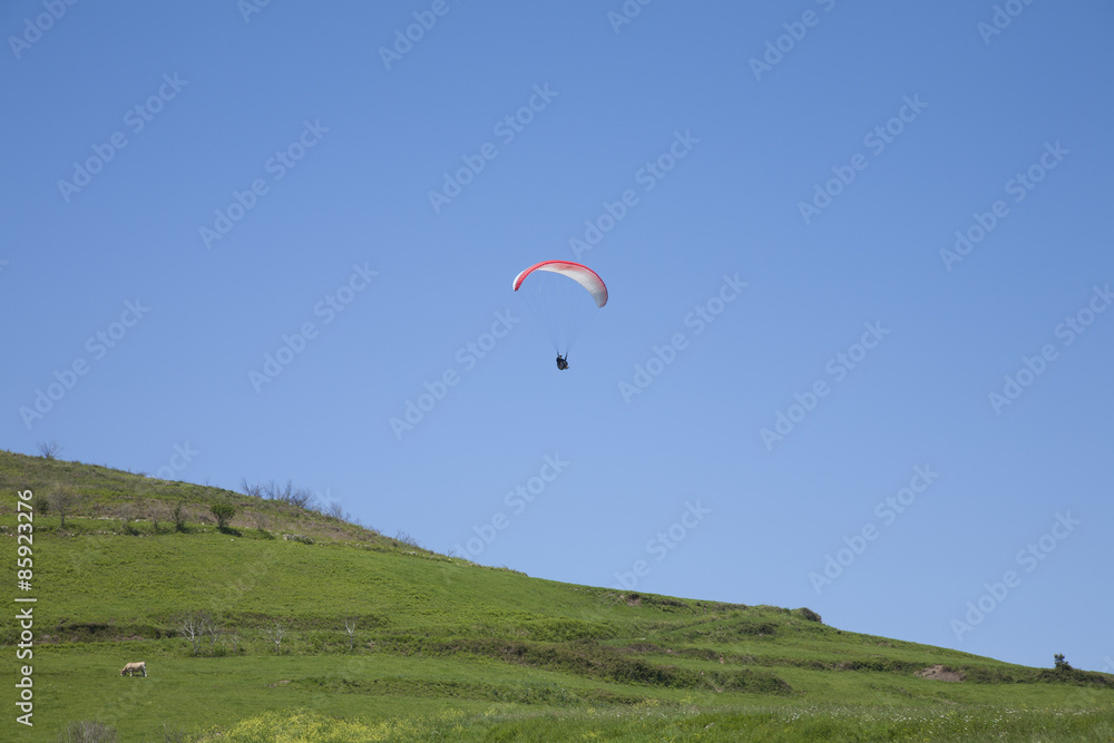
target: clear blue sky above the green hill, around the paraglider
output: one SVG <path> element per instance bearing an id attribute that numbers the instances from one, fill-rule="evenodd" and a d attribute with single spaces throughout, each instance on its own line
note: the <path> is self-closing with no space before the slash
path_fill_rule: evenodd
<path id="1" fill-rule="evenodd" d="M 0 444 L 1114 669 L 1114 8 L 758 4 L 3 3 Z"/>

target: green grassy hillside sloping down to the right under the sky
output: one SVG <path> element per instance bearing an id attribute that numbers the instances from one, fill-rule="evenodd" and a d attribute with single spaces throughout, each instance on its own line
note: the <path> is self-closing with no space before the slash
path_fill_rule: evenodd
<path id="1" fill-rule="evenodd" d="M 57 741 L 78 721 L 229 743 L 1114 740 L 1106 674 L 844 632 L 807 608 L 540 580 L 79 462 L 0 451 L 0 486 L 7 586 L 17 491 L 35 493 L 32 589 L 11 594 L 37 599 L 32 661 L 0 623 L 8 678 L 33 666 L 35 726 L 13 722 L 9 683 L 0 740 Z M 75 501 L 65 527 L 56 492 Z M 237 509 L 224 529 L 216 504 Z M 131 661 L 149 676 L 120 677 Z"/>

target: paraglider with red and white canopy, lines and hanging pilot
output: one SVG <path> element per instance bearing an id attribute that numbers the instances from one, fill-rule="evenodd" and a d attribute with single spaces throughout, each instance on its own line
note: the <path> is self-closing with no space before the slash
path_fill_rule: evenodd
<path id="1" fill-rule="evenodd" d="M 584 326 L 607 304 L 607 286 L 595 271 L 570 261 L 543 261 L 515 276 L 530 310 L 557 350 L 557 369 L 568 369 L 568 349 Z"/>

